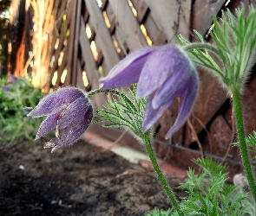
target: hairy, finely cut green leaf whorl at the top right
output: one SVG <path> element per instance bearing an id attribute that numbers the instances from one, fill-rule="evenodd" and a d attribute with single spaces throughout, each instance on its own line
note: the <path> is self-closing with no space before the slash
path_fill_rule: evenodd
<path id="1" fill-rule="evenodd" d="M 221 20 L 213 16 L 213 44 L 204 42 L 190 43 L 182 36 L 177 37 L 181 45 L 186 45 L 189 56 L 194 63 L 213 71 L 229 92 L 243 91 L 256 48 L 256 10 L 249 7 L 245 16 L 245 7 L 222 12 Z M 210 55 L 208 52 L 210 52 Z M 213 57 L 214 56 L 214 57 Z"/>

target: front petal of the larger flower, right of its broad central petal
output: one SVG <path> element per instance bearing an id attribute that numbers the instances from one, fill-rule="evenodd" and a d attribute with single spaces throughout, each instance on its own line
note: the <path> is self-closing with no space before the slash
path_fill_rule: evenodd
<path id="1" fill-rule="evenodd" d="M 174 100 L 174 98 L 181 95 L 189 85 L 189 81 L 192 77 L 191 72 L 194 73 L 186 65 L 182 65 L 175 73 L 167 79 L 167 81 L 160 87 L 160 89 L 155 92 L 154 99 L 152 101 L 152 106 L 157 109 L 161 105 L 167 103 L 168 100 Z"/>

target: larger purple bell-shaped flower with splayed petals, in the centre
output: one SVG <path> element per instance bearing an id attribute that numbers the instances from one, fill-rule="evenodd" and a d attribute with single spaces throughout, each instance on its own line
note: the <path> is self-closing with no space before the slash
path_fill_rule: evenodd
<path id="1" fill-rule="evenodd" d="M 142 130 L 148 130 L 181 96 L 178 117 L 166 138 L 187 121 L 199 88 L 198 73 L 185 51 L 175 45 L 142 48 L 121 60 L 100 80 L 103 89 L 138 83 L 137 98 L 148 96 Z"/>

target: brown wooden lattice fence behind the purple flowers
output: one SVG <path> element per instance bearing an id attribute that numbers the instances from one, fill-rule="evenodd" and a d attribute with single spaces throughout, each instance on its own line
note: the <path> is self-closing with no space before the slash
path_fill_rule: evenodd
<path id="1" fill-rule="evenodd" d="M 233 11 L 240 3 L 247 6 L 251 2 L 64 0 L 56 1 L 54 5 L 50 3 L 44 10 L 52 11 L 52 19 L 43 22 L 43 34 L 49 36 L 47 52 L 43 55 L 41 50 L 38 54 L 38 58 L 44 56 L 41 63 L 43 68 L 48 68 L 49 73 L 45 74 L 49 76 L 49 88 L 72 85 L 91 91 L 99 87 L 99 78 L 107 75 L 126 54 L 138 48 L 175 43 L 174 32 L 190 41 L 197 41 L 193 29 L 207 36 L 213 21 L 212 11 L 214 14 L 226 8 Z M 256 7 L 255 1 L 252 3 Z M 211 41 L 209 36 L 206 40 Z M 40 68 L 30 67 L 28 73 L 38 73 L 38 70 Z M 247 134 L 255 129 L 256 121 L 256 79 L 253 73 L 250 80 L 244 93 Z M 94 96 L 93 101 L 96 106 L 102 106 L 106 96 Z M 191 159 L 194 157 L 213 156 L 220 162 L 228 162 L 233 173 L 240 171 L 238 150 L 230 148 L 230 143 L 236 137 L 232 107 L 216 79 L 200 70 L 200 95 L 192 116 L 174 137 L 165 140 L 164 136 L 174 124 L 177 110 L 178 101 L 175 101 L 155 124 L 154 149 L 158 156 L 167 157 L 169 161 L 184 167 L 193 166 Z M 102 129 L 100 126 L 94 126 L 91 130 L 112 140 L 121 135 L 121 131 Z M 123 137 L 121 143 L 141 148 L 128 135 Z"/>

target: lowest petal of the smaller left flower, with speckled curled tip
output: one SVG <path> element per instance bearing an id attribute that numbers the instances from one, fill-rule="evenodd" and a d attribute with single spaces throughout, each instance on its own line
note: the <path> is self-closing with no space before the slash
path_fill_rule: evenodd
<path id="1" fill-rule="evenodd" d="M 77 142 L 78 139 L 82 136 L 85 130 L 88 129 L 89 124 L 91 123 L 93 118 L 93 108 L 89 106 L 88 111 L 84 115 L 83 121 L 79 124 L 76 124 L 73 127 L 68 127 L 62 130 L 61 138 L 54 138 L 50 140 L 48 143 L 45 143 L 44 148 L 52 148 L 51 152 L 56 149 L 67 147 Z"/>

